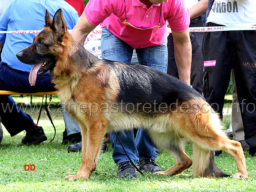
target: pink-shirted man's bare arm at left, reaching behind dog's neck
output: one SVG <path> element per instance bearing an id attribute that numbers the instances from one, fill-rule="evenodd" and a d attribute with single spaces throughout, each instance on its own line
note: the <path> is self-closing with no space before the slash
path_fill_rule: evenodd
<path id="1" fill-rule="evenodd" d="M 77 24 L 74 26 L 74 29 L 71 31 L 71 35 L 76 41 L 78 41 L 82 46 L 84 46 L 84 41 L 87 35 L 95 28 L 96 26 L 90 24 L 83 13 Z"/>

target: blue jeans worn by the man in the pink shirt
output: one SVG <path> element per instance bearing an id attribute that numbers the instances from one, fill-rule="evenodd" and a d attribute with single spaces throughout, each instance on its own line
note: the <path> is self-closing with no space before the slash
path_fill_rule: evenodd
<path id="1" fill-rule="evenodd" d="M 118 39 L 106 27 L 102 28 L 102 59 L 130 63 L 133 50 L 134 49 L 130 45 Z M 162 72 L 167 71 L 167 40 L 163 45 L 136 49 L 136 53 L 140 65 L 146 65 Z M 142 159 L 156 159 L 156 147 L 154 147 L 148 133 L 144 131 L 144 129 L 138 129 L 135 139 L 133 130 L 118 131 L 117 134 L 134 163 L 137 163 Z M 110 132 L 110 141 L 113 147 L 112 156 L 116 165 L 124 161 L 129 161 L 116 135 L 112 131 Z"/>

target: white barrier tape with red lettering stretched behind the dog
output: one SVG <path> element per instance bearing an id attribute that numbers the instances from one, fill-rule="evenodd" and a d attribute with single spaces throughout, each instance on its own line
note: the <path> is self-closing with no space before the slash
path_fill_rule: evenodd
<path id="1" fill-rule="evenodd" d="M 171 29 L 168 28 L 171 32 Z M 242 31 L 256 30 L 256 25 L 253 26 L 236 26 L 236 27 L 189 27 L 190 32 L 207 32 L 207 31 Z M 16 31 L 0 31 L 0 33 L 40 33 L 41 30 L 16 30 Z M 68 30 L 72 31 L 72 29 Z M 91 33 L 101 33 L 101 29 L 93 30 Z"/>

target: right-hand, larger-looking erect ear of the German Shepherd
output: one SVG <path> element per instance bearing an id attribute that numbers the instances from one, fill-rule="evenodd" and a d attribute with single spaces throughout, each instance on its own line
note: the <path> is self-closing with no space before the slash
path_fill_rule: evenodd
<path id="1" fill-rule="evenodd" d="M 64 35 L 64 33 L 67 32 L 68 29 L 66 22 L 64 21 L 64 18 L 62 16 L 62 9 L 59 9 L 55 13 L 50 28 L 58 34 L 59 38 L 61 38 Z"/>

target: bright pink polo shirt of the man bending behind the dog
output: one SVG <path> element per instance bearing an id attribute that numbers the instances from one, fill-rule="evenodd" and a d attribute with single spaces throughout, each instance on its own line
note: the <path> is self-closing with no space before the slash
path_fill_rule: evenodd
<path id="1" fill-rule="evenodd" d="M 150 28 L 158 25 L 161 4 L 147 8 L 140 0 L 126 0 L 127 22 L 138 28 Z M 134 49 L 162 45 L 166 41 L 170 28 L 175 32 L 185 31 L 190 24 L 188 8 L 184 0 L 163 2 L 160 28 L 136 29 L 126 24 L 124 0 L 90 0 L 84 9 L 86 18 L 92 25 L 107 27 L 116 37 Z"/>

